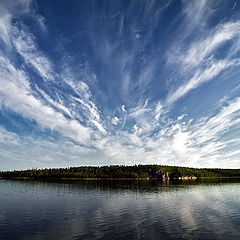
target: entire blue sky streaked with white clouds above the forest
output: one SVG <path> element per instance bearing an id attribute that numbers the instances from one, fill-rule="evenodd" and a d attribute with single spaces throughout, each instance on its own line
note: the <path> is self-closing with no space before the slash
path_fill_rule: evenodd
<path id="1" fill-rule="evenodd" d="M 0 0 L 0 170 L 240 168 L 240 1 Z"/>

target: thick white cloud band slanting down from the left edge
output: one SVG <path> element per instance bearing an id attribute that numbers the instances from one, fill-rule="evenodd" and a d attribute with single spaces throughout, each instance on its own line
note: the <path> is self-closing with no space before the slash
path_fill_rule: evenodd
<path id="1" fill-rule="evenodd" d="M 66 119 L 35 98 L 25 73 L 17 70 L 8 59 L 0 57 L 0 69 L 0 97 L 5 107 L 77 141 L 84 142 L 90 137 L 89 129 L 75 120 Z"/>

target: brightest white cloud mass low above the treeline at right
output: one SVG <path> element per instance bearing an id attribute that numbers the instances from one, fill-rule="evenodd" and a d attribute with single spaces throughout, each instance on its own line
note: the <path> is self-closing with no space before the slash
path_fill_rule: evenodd
<path id="1" fill-rule="evenodd" d="M 213 117 L 186 123 L 181 115 L 176 121 L 162 125 L 153 136 L 146 132 L 139 135 L 141 129 L 135 124 L 132 133 L 118 131 L 116 136 L 109 137 L 102 151 L 111 161 L 124 164 L 170 163 L 195 167 L 235 164 L 239 167 L 239 162 L 230 159 L 231 153 L 237 156 L 237 149 L 227 150 L 237 140 L 233 141 L 232 137 L 231 142 L 222 139 L 228 129 L 237 129 L 239 117 L 240 100 L 236 98 Z"/>

